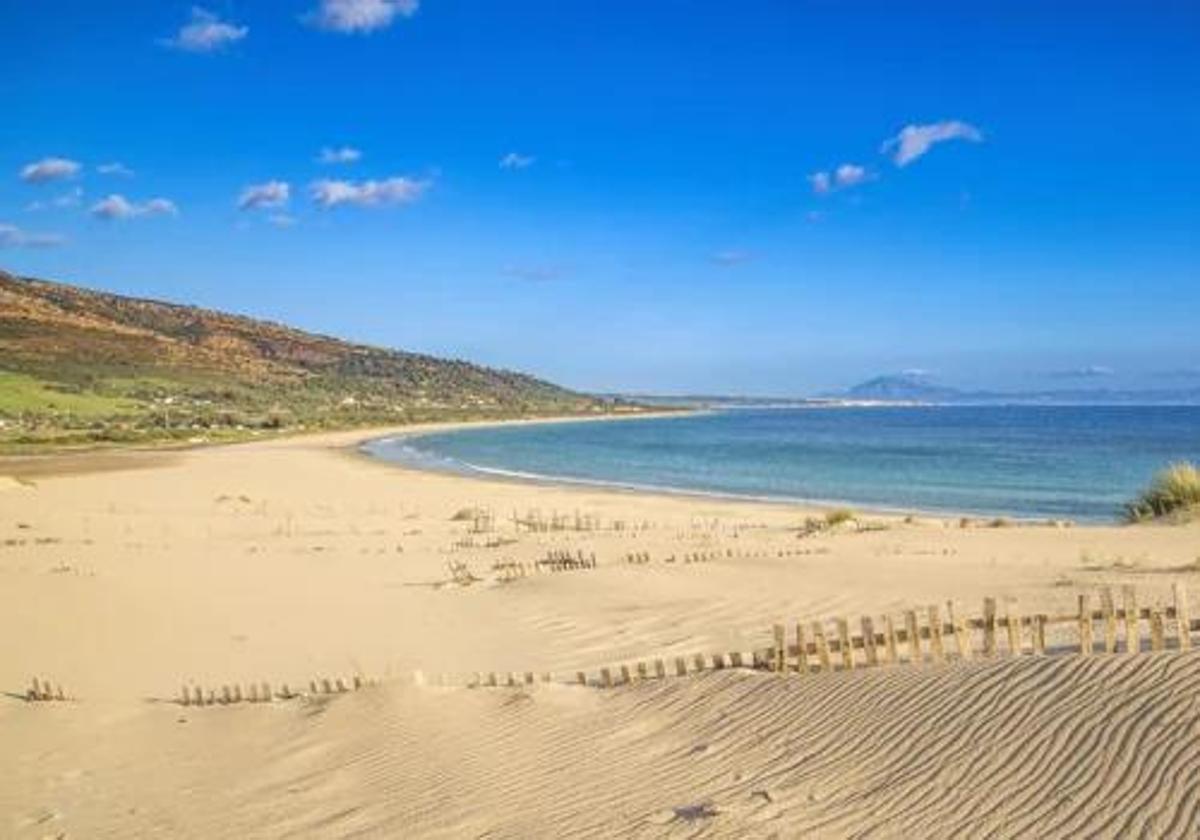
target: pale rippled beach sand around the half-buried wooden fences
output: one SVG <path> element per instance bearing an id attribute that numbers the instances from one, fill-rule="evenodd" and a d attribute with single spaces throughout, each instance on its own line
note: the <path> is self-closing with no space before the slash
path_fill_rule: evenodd
<path id="1" fill-rule="evenodd" d="M 779 678 L 725 671 L 601 690 L 414 685 L 770 643 L 774 622 L 985 595 L 1069 612 L 1172 581 L 1200 529 L 888 527 L 799 539 L 784 505 L 427 474 L 362 433 L 0 462 L 0 835 L 1188 836 L 1200 820 L 1200 654 L 1051 656 Z M 30 484 L 32 482 L 32 484 Z M 493 509 L 518 542 L 451 551 Z M 514 534 L 514 510 L 644 532 Z M 715 528 L 714 528 L 715 523 Z M 742 526 L 734 530 L 736 526 Z M 737 535 L 734 536 L 734 533 Z M 486 536 L 476 536 L 482 541 Z M 496 558 L 599 569 L 492 580 Z M 730 551 L 666 564 L 685 552 Z M 630 551 L 648 565 L 628 565 Z M 784 557 L 779 553 L 785 552 Z M 467 560 L 481 583 L 424 586 Z M 1001 611 L 1003 612 L 1003 606 Z M 184 680 L 318 700 L 184 708 Z"/>

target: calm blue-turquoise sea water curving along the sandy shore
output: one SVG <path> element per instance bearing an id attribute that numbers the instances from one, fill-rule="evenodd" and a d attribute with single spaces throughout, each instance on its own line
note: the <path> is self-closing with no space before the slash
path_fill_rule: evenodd
<path id="1" fill-rule="evenodd" d="M 1111 520 L 1160 467 L 1200 461 L 1200 407 L 738 409 L 467 428 L 367 449 L 421 466 L 596 484 Z"/>

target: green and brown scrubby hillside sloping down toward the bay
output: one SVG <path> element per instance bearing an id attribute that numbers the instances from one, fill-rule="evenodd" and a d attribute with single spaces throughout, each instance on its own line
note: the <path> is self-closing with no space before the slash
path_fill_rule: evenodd
<path id="1" fill-rule="evenodd" d="M 611 402 L 461 360 L 0 271 L 0 440 L 572 414 Z"/>

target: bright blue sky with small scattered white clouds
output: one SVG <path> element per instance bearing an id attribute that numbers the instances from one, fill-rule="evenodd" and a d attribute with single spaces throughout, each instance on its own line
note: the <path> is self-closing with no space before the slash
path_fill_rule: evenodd
<path id="1" fill-rule="evenodd" d="M 5 0 L 0 268 L 595 391 L 1200 384 L 1200 5 Z"/>

